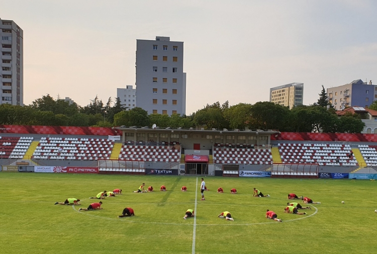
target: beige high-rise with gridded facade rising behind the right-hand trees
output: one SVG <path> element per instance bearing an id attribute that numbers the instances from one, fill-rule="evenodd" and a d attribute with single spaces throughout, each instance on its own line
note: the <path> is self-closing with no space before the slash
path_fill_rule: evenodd
<path id="1" fill-rule="evenodd" d="M 303 105 L 304 83 L 290 83 L 269 89 L 269 101 L 281 106 L 290 107 Z"/>

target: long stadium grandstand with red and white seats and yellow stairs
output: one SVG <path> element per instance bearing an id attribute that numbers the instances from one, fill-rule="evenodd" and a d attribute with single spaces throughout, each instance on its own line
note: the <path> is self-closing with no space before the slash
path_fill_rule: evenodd
<path id="1" fill-rule="evenodd" d="M 376 139 L 274 130 L 4 125 L 0 164 L 92 167 L 100 174 L 318 178 L 330 172 L 377 173 Z"/>

